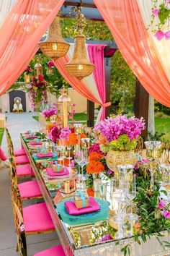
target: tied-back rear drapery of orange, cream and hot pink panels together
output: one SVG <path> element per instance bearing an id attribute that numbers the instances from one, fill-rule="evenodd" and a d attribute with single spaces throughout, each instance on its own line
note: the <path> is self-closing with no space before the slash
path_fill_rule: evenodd
<path id="1" fill-rule="evenodd" d="M 55 66 L 62 74 L 64 79 L 75 88 L 85 98 L 99 103 L 102 108 L 99 111 L 98 119 L 105 118 L 105 108 L 110 103 L 105 103 L 105 72 L 104 72 L 104 45 L 91 45 L 86 46 L 87 56 L 90 61 L 95 64 L 94 72 L 89 77 L 85 77 L 79 81 L 75 77 L 71 77 L 66 71 L 65 64 L 71 59 L 73 55 L 73 44 L 68 51 L 68 54 L 55 62 Z"/>

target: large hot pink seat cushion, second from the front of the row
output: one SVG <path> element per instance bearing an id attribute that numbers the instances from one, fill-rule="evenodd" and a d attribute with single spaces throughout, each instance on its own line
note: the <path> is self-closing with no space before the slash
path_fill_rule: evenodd
<path id="1" fill-rule="evenodd" d="M 23 208 L 23 218 L 25 232 L 55 229 L 45 202 Z"/>

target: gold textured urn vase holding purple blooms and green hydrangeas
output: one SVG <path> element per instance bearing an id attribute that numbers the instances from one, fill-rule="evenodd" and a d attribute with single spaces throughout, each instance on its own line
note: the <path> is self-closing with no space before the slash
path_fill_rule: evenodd
<path id="1" fill-rule="evenodd" d="M 117 166 L 126 164 L 133 164 L 135 166 L 137 161 L 138 159 L 136 158 L 134 151 L 109 150 L 106 156 L 107 167 L 110 170 L 115 171 L 115 173 L 118 171 Z"/>

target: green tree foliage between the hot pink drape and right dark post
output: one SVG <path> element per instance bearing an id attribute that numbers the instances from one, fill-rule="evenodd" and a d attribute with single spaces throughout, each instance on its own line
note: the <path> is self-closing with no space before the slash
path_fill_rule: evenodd
<path id="1" fill-rule="evenodd" d="M 135 98 L 135 75 L 131 71 L 120 51 L 116 51 L 111 64 L 111 111 L 115 114 L 127 114 L 133 111 Z"/>

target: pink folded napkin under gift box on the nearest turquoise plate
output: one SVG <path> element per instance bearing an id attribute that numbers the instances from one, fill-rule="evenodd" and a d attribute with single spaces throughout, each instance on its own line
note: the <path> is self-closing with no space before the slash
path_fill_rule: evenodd
<path id="1" fill-rule="evenodd" d="M 70 215 L 80 215 L 84 213 L 93 213 L 100 210 L 100 207 L 94 197 L 89 197 L 89 205 L 85 208 L 78 209 L 73 201 L 64 202 L 66 210 Z M 92 206 L 92 207 L 91 207 Z"/>

